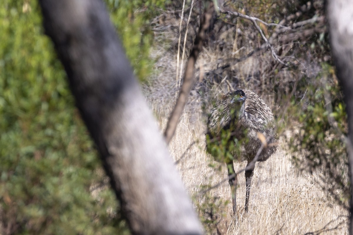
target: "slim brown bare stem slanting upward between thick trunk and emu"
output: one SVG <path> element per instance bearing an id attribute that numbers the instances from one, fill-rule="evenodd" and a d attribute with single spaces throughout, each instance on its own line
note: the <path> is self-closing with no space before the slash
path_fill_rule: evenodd
<path id="1" fill-rule="evenodd" d="M 175 104 L 174 109 L 170 114 L 166 130 L 164 131 L 164 137 L 166 138 L 167 143 L 170 142 L 174 135 L 175 129 L 177 128 L 181 113 L 184 110 L 190 90 L 192 86 L 195 85 L 195 83 L 197 82 L 197 79 L 194 78 L 194 66 L 197 60 L 197 56 L 202 50 L 202 44 L 206 37 L 206 30 L 211 24 L 213 12 L 213 1 L 208 1 L 208 7 L 206 8 L 203 16 L 201 17 L 199 32 L 196 35 L 192 51 L 190 53 L 189 59 L 186 62 L 183 86 L 180 88 L 177 103 Z"/>

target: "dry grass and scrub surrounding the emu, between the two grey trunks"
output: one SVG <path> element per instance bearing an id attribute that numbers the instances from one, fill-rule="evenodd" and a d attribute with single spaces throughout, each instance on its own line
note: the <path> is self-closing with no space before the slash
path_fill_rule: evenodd
<path id="1" fill-rule="evenodd" d="M 183 5 L 175 2 L 152 21 L 156 38 L 152 57 L 157 62 L 150 83 L 144 86 L 161 130 L 182 83 L 182 65 L 192 47 L 201 6 L 193 2 L 190 13 L 189 2 L 180 26 Z M 340 142 L 346 133 L 345 113 L 332 72 L 323 1 L 254 0 L 220 6 L 197 61 L 199 82 L 169 145 L 206 233 L 347 234 L 347 165 Z M 244 213 L 245 194 L 238 194 L 237 221 L 231 216 L 226 166 L 205 153 L 204 137 L 213 100 L 234 88 L 251 89 L 269 104 L 280 137 L 277 153 L 257 163 L 249 213 Z M 311 120 L 317 132 L 310 132 L 305 124 Z M 316 138 L 319 133 L 322 138 Z M 328 145 L 332 139 L 340 140 L 336 143 L 340 148 Z M 310 144 L 315 148 L 306 149 Z M 238 182 L 245 191 L 244 173 Z"/>

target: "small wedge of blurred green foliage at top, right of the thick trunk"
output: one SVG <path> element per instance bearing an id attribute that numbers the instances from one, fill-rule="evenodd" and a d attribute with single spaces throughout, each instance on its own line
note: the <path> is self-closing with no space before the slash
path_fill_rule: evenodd
<path id="1" fill-rule="evenodd" d="M 149 58 L 153 32 L 148 26 L 156 16 L 156 7 L 163 7 L 165 0 L 106 0 L 112 20 L 131 61 L 134 73 L 141 81 L 151 72 L 154 61 Z"/>

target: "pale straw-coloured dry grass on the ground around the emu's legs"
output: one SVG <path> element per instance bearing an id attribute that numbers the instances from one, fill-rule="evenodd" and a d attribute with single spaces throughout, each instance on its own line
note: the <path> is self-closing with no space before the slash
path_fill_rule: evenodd
<path id="1" fill-rule="evenodd" d="M 195 115 L 195 113 L 193 114 Z M 191 124 L 189 115 L 181 117 L 178 130 L 169 149 L 175 161 L 180 159 L 190 143 L 199 143 L 190 148 L 177 164 L 181 178 L 190 194 L 196 196 L 196 204 L 210 198 L 231 200 L 226 167 L 210 167 L 215 163 L 204 151 L 204 124 L 201 111 L 198 122 Z M 160 119 L 164 126 L 166 119 Z M 235 169 L 245 167 L 246 162 L 235 163 Z M 336 205 L 315 182 L 317 174 L 298 172 L 291 163 L 286 143 L 280 141 L 280 149 L 270 159 L 257 163 L 252 181 L 250 207 L 244 213 L 245 177 L 238 177 L 237 203 L 240 219 L 232 216 L 231 203 L 220 203 L 216 215 L 217 228 L 221 234 L 348 234 L 347 211 Z M 208 198 L 197 197 L 203 185 L 223 183 L 210 191 Z M 223 212 L 223 214 L 222 214 Z M 215 227 L 214 227 L 215 228 Z M 208 230 L 209 233 L 216 233 Z"/>

